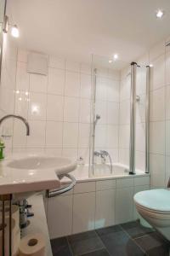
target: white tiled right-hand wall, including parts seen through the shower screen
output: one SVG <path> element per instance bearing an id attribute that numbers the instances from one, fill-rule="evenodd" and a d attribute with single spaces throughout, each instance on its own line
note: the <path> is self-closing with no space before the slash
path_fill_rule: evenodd
<path id="1" fill-rule="evenodd" d="M 170 156 L 170 47 L 166 40 L 150 49 L 137 62 L 152 64 L 150 74 L 150 184 L 153 188 L 167 185 Z M 129 140 L 129 68 L 122 71 L 120 91 L 119 161 L 128 163 Z M 137 72 L 136 166 L 144 170 L 144 69 Z M 127 101 L 127 102 L 126 102 Z"/>

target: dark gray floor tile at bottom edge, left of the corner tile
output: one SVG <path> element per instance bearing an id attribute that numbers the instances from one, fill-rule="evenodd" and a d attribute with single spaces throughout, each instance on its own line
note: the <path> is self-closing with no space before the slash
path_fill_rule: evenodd
<path id="1" fill-rule="evenodd" d="M 111 256 L 144 256 L 133 240 L 122 231 L 100 236 Z"/>

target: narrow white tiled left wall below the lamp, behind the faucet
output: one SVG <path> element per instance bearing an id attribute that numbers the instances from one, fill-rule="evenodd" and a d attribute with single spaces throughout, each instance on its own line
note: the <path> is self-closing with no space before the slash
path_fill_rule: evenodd
<path id="1" fill-rule="evenodd" d="M 10 13 L 7 13 L 9 18 Z M 14 113 L 14 89 L 16 79 L 17 47 L 10 33 L 3 33 L 3 62 L 0 84 L 0 118 L 5 114 Z M 0 135 L 13 135 L 13 120 L 8 119 L 1 126 Z M 12 139 L 9 137 L 6 142 L 6 152 L 11 151 Z"/>

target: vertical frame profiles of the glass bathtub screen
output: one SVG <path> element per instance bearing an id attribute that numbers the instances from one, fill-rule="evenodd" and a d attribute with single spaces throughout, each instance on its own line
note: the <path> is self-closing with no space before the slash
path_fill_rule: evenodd
<path id="1" fill-rule="evenodd" d="M 146 70 L 146 80 L 145 80 L 145 164 L 144 172 L 150 173 L 150 66 L 141 66 Z M 136 73 L 137 68 L 140 68 L 138 63 L 131 63 L 131 89 L 130 89 L 130 140 L 129 140 L 129 175 L 134 175 L 136 170 L 135 165 L 135 143 L 136 143 Z M 90 137 L 91 143 L 89 146 L 89 176 L 94 175 L 94 143 L 95 143 L 95 94 L 96 94 L 96 79 L 97 73 L 96 69 L 92 65 L 92 108 L 91 108 L 91 129 Z"/>

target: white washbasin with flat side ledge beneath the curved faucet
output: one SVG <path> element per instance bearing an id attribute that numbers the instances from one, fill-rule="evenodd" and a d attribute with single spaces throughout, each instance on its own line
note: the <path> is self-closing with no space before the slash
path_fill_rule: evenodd
<path id="1" fill-rule="evenodd" d="M 0 195 L 58 189 L 58 175 L 77 168 L 69 158 L 46 154 L 11 154 L 0 161 Z"/>

